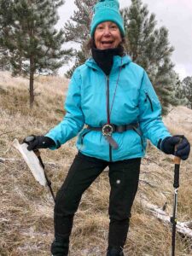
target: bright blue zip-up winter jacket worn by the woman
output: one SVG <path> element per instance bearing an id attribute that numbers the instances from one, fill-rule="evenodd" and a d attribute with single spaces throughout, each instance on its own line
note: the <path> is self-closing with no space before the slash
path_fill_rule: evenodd
<path id="1" fill-rule="evenodd" d="M 86 128 L 86 125 L 101 127 L 107 123 L 107 79 L 110 108 L 113 102 L 110 123 L 139 124 L 139 132 L 113 133 L 113 139 L 119 145 L 117 149 L 110 147 L 102 131 Z M 143 157 L 147 139 L 157 146 L 160 139 L 171 136 L 162 122 L 160 102 L 147 73 L 131 62 L 128 55 L 113 57 L 108 78 L 92 58 L 78 67 L 69 84 L 65 109 L 64 119 L 46 136 L 55 141 L 55 148 L 59 148 L 79 134 L 76 144 L 79 151 L 102 160 Z"/>

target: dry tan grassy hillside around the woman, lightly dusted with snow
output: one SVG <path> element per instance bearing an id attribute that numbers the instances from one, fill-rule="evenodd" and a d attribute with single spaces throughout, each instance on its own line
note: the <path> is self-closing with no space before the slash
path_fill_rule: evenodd
<path id="1" fill-rule="evenodd" d="M 28 103 L 28 80 L 0 73 L 0 255 L 48 256 L 53 240 L 54 203 L 49 190 L 34 181 L 20 154 L 11 146 L 30 134 L 44 134 L 63 117 L 67 80 L 49 77 L 35 82 L 36 102 Z M 178 107 L 165 119 L 172 134 L 185 134 L 192 143 L 192 111 Z M 45 168 L 56 192 L 76 154 L 75 140 L 55 151 L 41 150 Z M 172 156 L 148 146 L 143 159 L 125 255 L 170 255 L 171 228 L 154 218 L 143 206 L 143 198 L 172 215 Z M 192 220 L 192 155 L 181 165 L 178 190 L 179 221 Z M 84 194 L 74 220 L 72 256 L 104 256 L 108 241 L 108 172 L 103 172 Z M 177 255 L 192 255 L 190 241 L 177 235 Z"/>

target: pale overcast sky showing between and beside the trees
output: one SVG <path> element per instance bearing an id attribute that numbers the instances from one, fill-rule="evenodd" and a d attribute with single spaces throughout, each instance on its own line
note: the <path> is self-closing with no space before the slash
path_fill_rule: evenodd
<path id="1" fill-rule="evenodd" d="M 120 8 L 124 8 L 131 0 L 119 0 L 119 3 Z M 175 48 L 172 61 L 180 79 L 192 76 L 192 0 L 143 0 L 143 3 L 148 4 L 149 13 L 156 15 L 157 26 L 166 26 L 169 30 L 169 40 Z M 59 27 L 73 15 L 75 8 L 73 0 L 66 0 L 59 9 Z"/>

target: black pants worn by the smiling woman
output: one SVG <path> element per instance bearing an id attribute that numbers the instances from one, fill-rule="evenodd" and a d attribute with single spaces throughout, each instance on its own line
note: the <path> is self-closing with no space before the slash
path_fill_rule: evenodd
<path id="1" fill-rule="evenodd" d="M 55 202 L 55 241 L 65 244 L 66 254 L 54 254 L 56 243 L 53 242 L 54 255 L 67 255 L 73 216 L 79 207 L 81 196 L 107 166 L 111 186 L 108 208 L 110 218 L 108 247 L 124 247 L 131 218 L 131 207 L 137 193 L 140 164 L 140 158 L 108 162 L 81 153 L 75 156 Z"/>

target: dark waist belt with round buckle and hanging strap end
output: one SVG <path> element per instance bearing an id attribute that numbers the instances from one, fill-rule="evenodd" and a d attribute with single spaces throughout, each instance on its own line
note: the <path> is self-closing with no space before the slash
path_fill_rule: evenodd
<path id="1" fill-rule="evenodd" d="M 137 131 L 137 128 L 139 127 L 139 124 L 131 124 L 131 125 L 113 125 L 113 124 L 105 124 L 102 125 L 102 127 L 92 127 L 90 125 L 87 125 L 87 129 L 90 131 L 102 131 L 102 135 L 106 137 L 108 140 L 108 143 L 114 148 L 118 148 L 118 144 L 115 142 L 115 140 L 112 137 L 113 132 L 124 132 L 128 130 L 134 130 Z M 137 133 L 139 133 L 137 131 Z"/>

